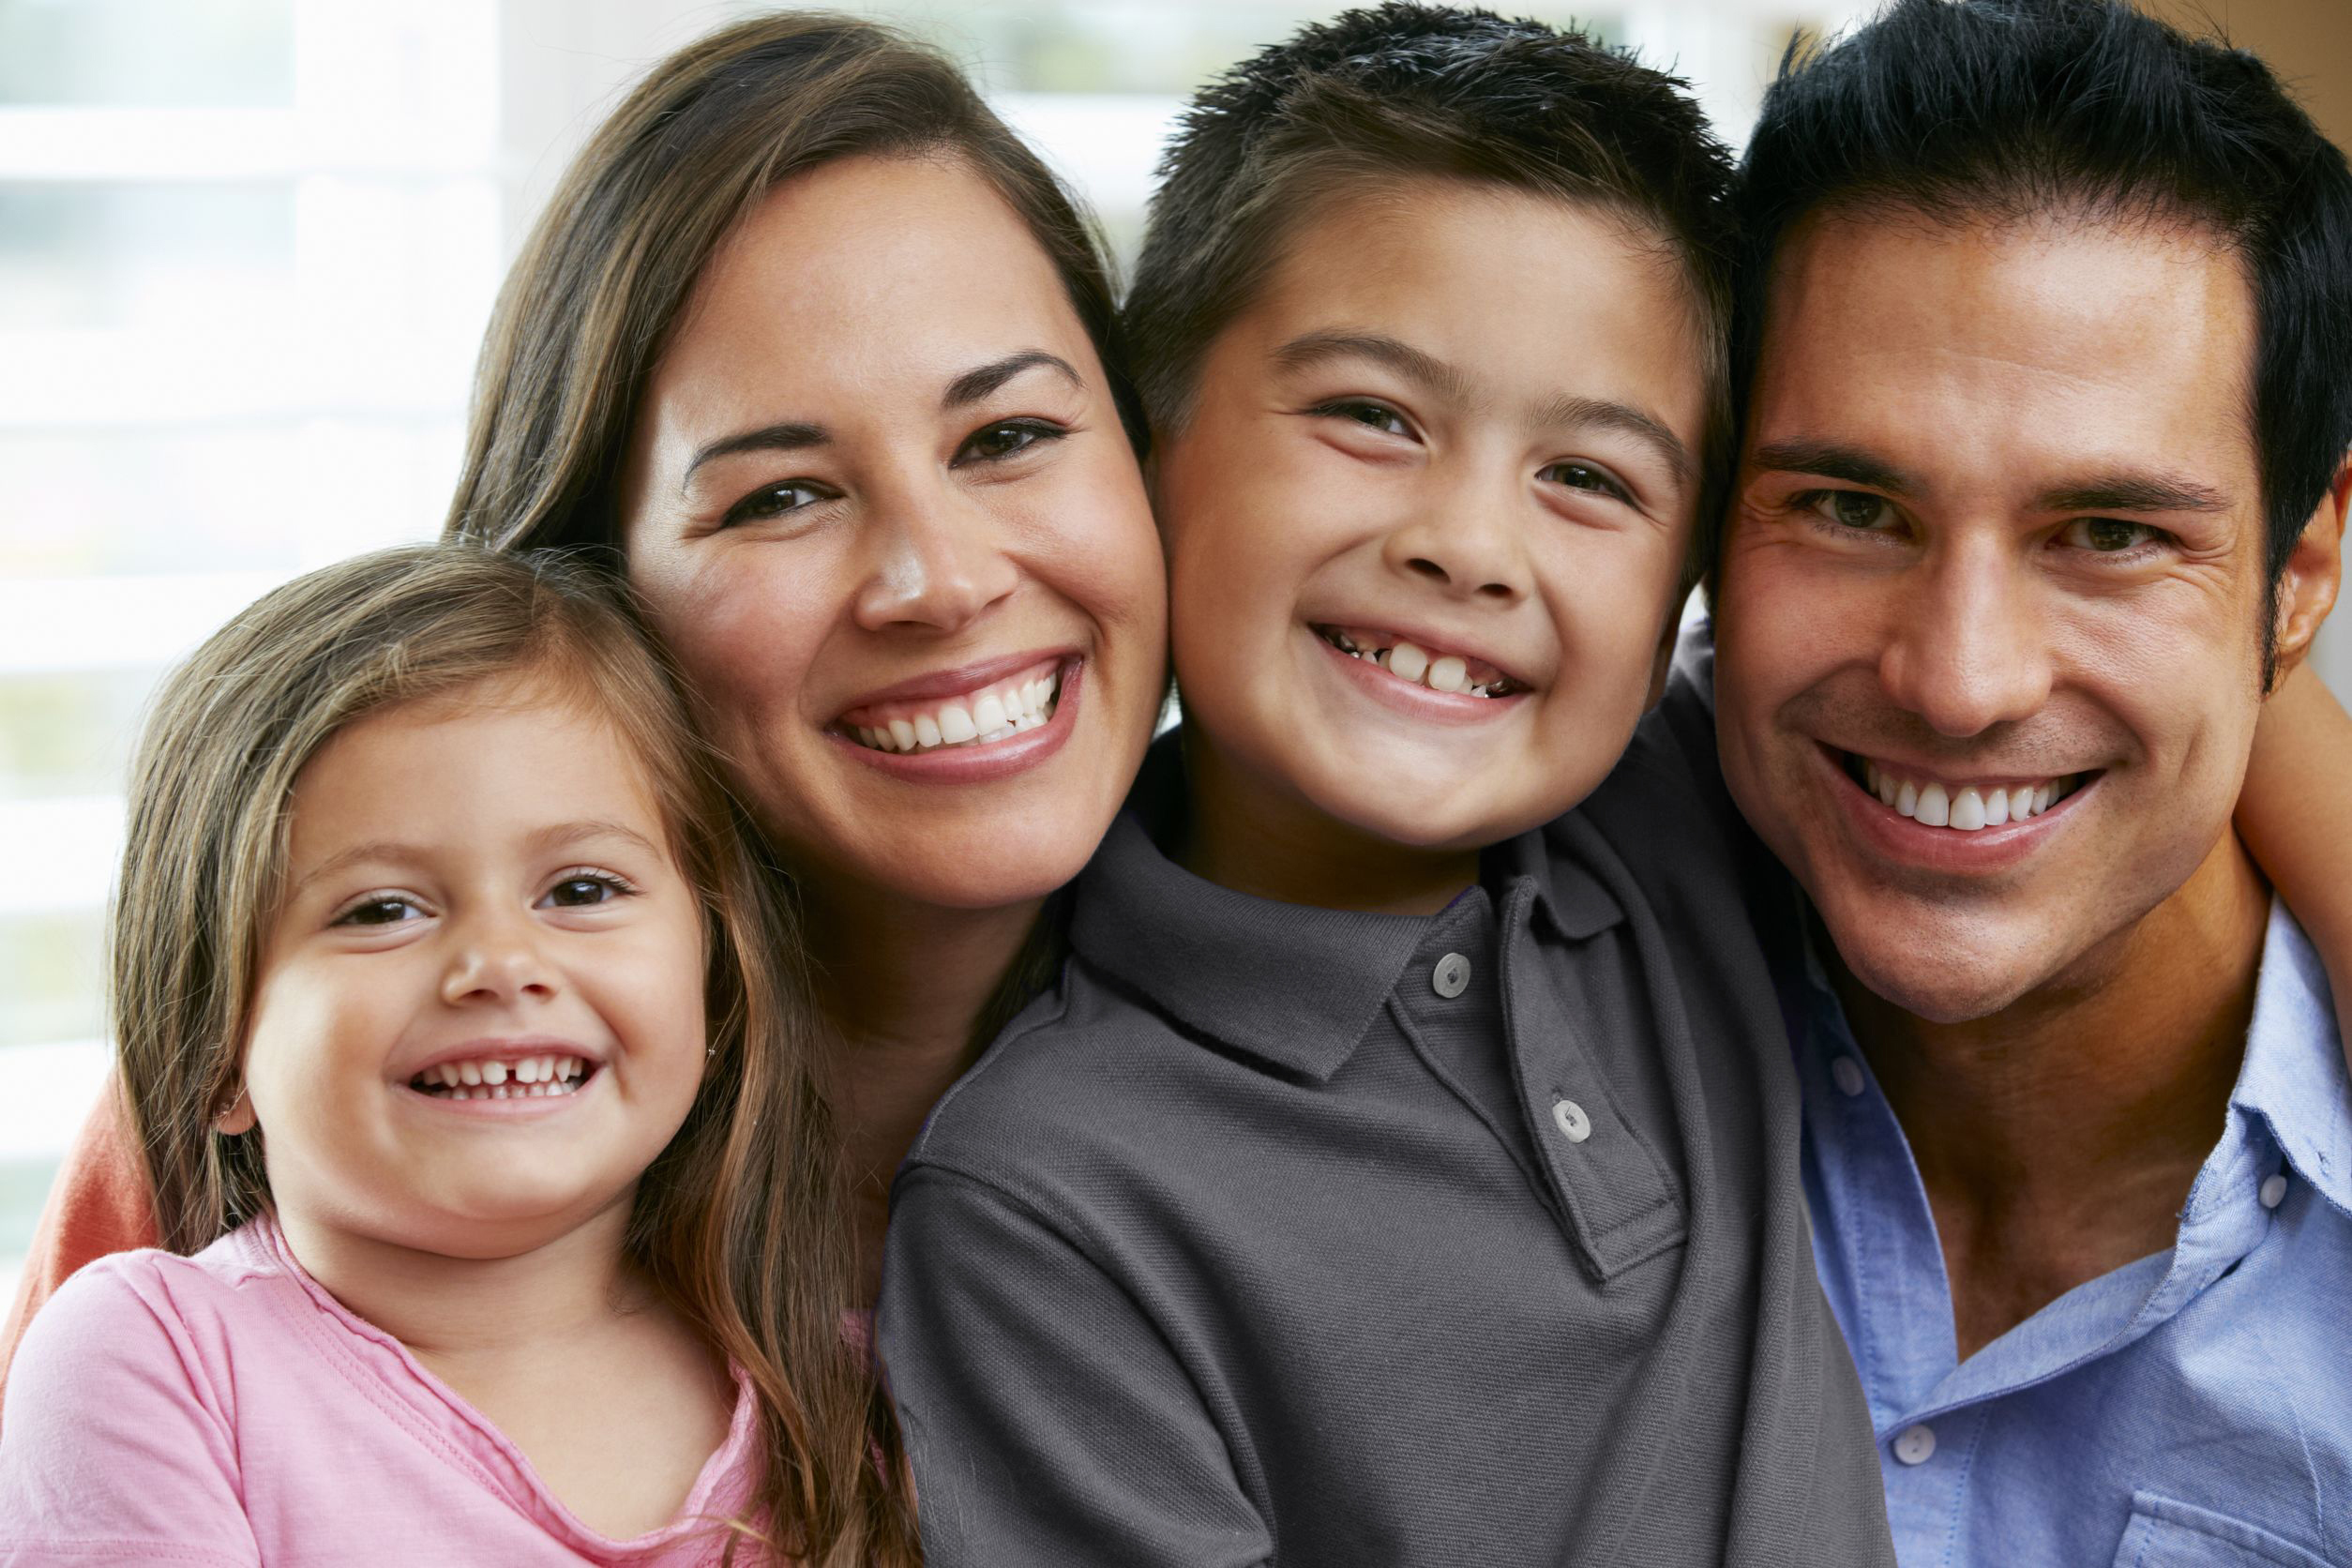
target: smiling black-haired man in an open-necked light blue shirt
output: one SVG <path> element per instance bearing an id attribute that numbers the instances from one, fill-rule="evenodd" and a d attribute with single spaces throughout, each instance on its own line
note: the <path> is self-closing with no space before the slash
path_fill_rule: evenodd
<path id="1" fill-rule="evenodd" d="M 2352 1561 L 2343 1058 L 2230 832 L 2338 588 L 2345 160 L 2122 5 L 1900 0 L 1743 179 L 1717 731 L 1898 1554 Z"/>

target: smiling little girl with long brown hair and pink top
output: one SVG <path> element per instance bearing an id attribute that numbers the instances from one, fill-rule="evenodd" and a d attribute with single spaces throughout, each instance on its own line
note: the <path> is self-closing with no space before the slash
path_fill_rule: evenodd
<path id="1" fill-rule="evenodd" d="M 797 940 L 572 567 L 412 548 L 179 670 L 113 1023 L 169 1251 L 82 1269 L 0 1563 L 913 1563 Z"/>

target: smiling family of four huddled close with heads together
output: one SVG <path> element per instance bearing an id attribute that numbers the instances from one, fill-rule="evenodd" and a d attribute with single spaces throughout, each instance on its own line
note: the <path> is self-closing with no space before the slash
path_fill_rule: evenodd
<path id="1" fill-rule="evenodd" d="M 449 541 L 155 701 L 0 1563 L 2352 1561 L 2347 367 L 2119 0 L 1738 167 L 1348 12 L 1122 301 L 936 54 L 691 45 Z"/>

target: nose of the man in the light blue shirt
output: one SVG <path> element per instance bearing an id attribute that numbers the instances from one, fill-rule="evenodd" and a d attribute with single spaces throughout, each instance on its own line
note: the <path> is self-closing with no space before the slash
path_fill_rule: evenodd
<path id="1" fill-rule="evenodd" d="M 2049 632 L 2027 567 L 2002 541 L 1933 552 L 1896 607 L 1879 682 L 1943 736 L 2023 719 L 2051 693 Z"/>

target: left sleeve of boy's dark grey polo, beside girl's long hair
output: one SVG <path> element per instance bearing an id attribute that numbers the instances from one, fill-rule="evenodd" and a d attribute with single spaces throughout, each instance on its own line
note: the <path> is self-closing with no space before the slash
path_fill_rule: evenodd
<path id="1" fill-rule="evenodd" d="M 910 1166 L 880 1345 L 924 1561 L 1258 1568 L 1272 1537 L 1134 1295 L 995 1187 Z"/>

